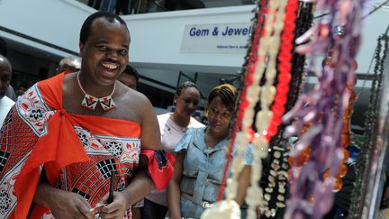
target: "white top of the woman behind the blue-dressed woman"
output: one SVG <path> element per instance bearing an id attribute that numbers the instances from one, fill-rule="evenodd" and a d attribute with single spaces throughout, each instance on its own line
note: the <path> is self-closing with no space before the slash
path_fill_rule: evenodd
<path id="1" fill-rule="evenodd" d="M 171 119 L 172 114 L 173 113 L 159 114 L 157 116 L 159 130 L 161 132 L 162 150 L 167 152 L 175 151 L 177 143 L 189 128 L 204 127 L 203 123 L 198 122 L 193 117 L 191 117 L 187 127 L 181 127 L 173 122 Z M 154 189 L 146 198 L 159 205 L 167 206 L 166 190 L 158 191 L 157 189 Z"/>

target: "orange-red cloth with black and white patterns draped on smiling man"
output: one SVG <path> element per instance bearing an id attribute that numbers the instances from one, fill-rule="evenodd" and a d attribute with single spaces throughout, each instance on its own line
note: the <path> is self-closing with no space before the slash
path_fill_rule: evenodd
<path id="1" fill-rule="evenodd" d="M 64 74 L 32 86 L 0 130 L 0 218 L 50 217 L 32 204 L 41 171 L 53 187 L 84 196 L 94 206 L 109 190 L 128 186 L 140 157 L 140 124 L 68 114 Z"/>

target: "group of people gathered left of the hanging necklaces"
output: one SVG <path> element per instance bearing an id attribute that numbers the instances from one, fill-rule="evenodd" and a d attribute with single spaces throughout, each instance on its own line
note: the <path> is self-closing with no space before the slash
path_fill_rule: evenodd
<path id="1" fill-rule="evenodd" d="M 0 56 L 1 214 L 10 218 L 199 218 L 217 199 L 237 90 L 208 96 L 208 124 L 194 118 L 200 89 L 176 87 L 175 111 L 156 115 L 129 63 L 130 31 L 116 14 L 83 23 L 79 57 L 57 75 L 6 95 L 12 65 Z M 232 156 L 235 152 L 232 152 Z M 236 202 L 244 203 L 252 154 Z"/>

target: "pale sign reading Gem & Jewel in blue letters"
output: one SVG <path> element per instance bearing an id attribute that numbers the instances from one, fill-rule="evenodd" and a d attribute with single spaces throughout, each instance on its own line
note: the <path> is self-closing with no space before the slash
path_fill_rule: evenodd
<path id="1" fill-rule="evenodd" d="M 245 53 L 251 23 L 186 25 L 181 51 Z"/>

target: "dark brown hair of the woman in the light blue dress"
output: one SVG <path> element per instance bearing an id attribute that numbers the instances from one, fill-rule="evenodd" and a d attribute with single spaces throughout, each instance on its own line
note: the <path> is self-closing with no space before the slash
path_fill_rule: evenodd
<path id="1" fill-rule="evenodd" d="M 221 98 L 223 105 L 225 105 L 230 112 L 234 111 L 236 98 L 238 96 L 237 89 L 235 87 L 230 84 L 213 87 L 210 95 L 208 96 L 208 104 L 211 103 L 216 96 Z"/>

